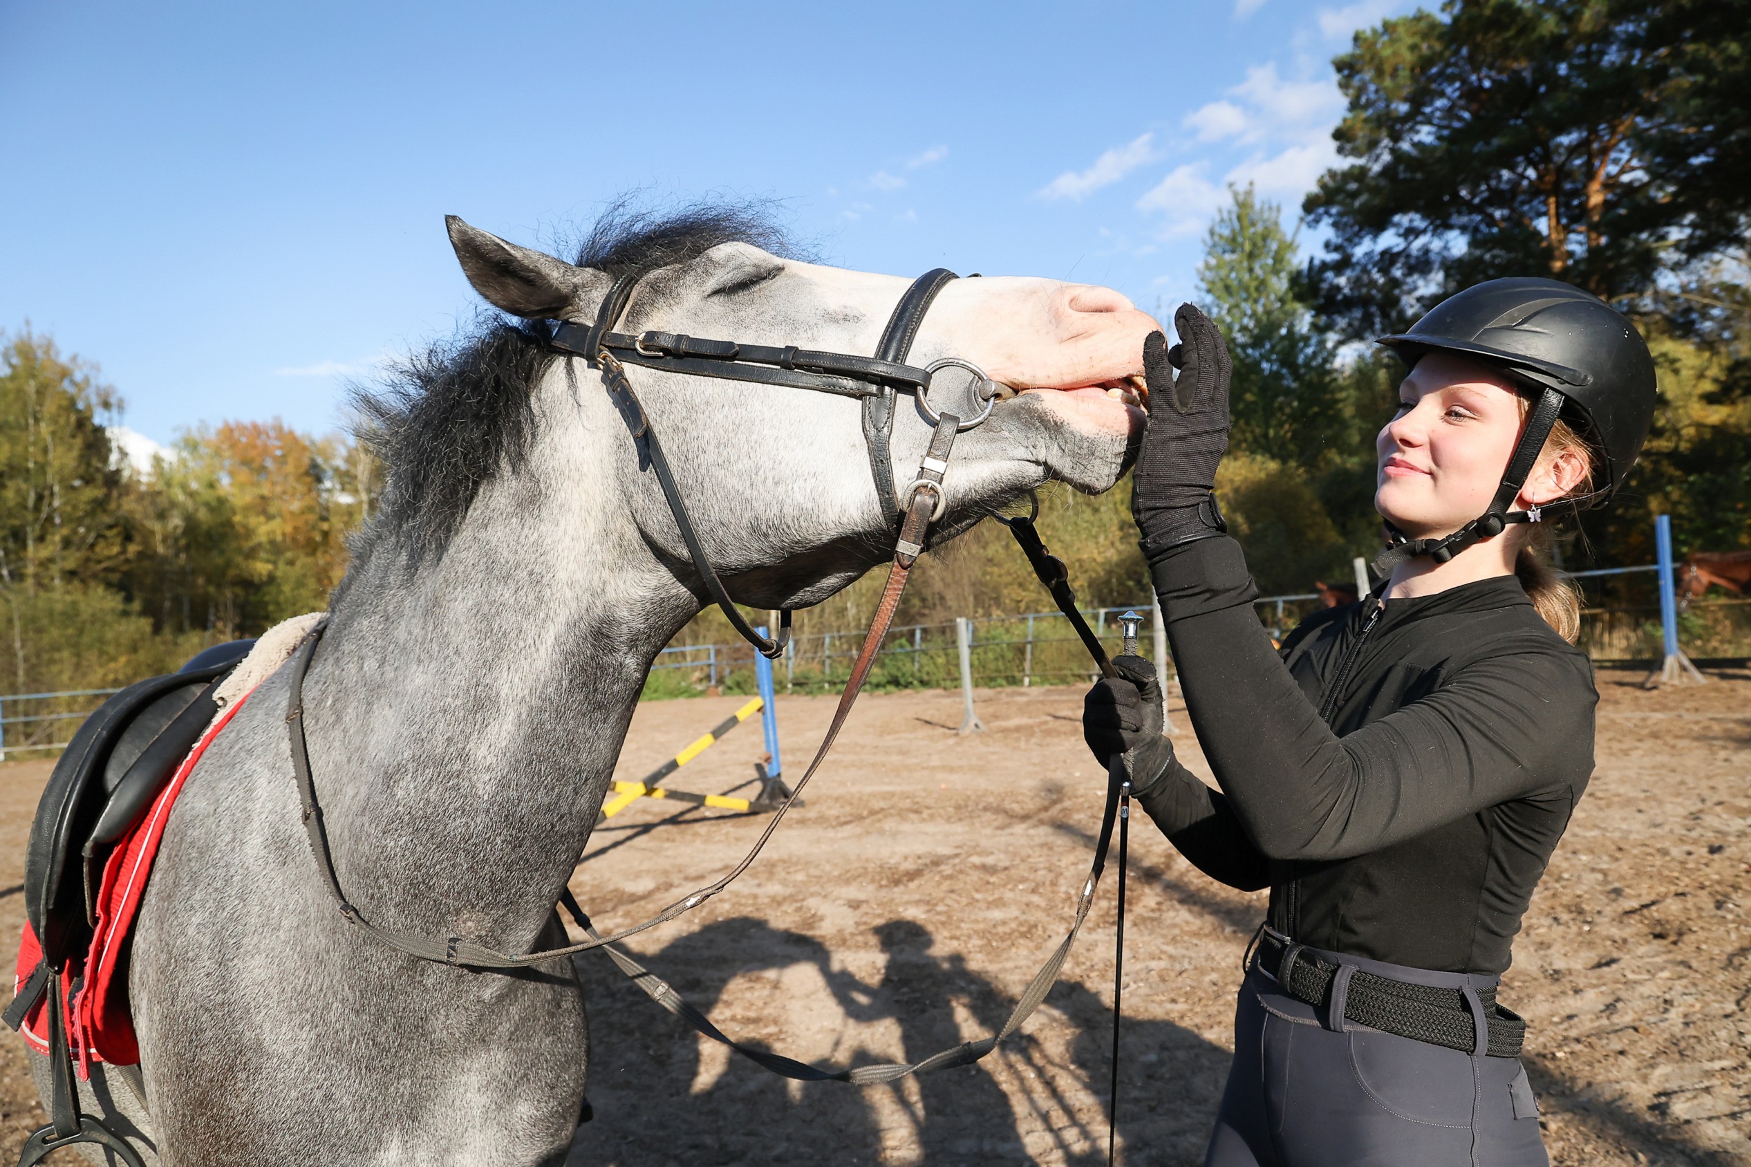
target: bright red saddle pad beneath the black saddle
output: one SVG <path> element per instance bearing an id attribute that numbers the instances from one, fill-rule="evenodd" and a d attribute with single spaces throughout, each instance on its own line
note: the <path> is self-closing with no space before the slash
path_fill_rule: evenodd
<path id="1" fill-rule="evenodd" d="M 201 734 L 189 755 L 177 766 L 175 776 L 159 790 L 151 810 L 123 834 L 109 860 L 96 892 L 96 930 L 84 957 L 68 957 L 61 978 L 65 992 L 67 1041 L 81 1078 L 89 1078 L 91 1062 L 133 1065 L 140 1060 L 140 1046 L 133 1036 L 133 1016 L 128 1011 L 128 937 L 140 911 L 145 880 L 152 873 L 152 859 L 165 838 L 170 808 L 182 792 L 194 764 L 207 746 L 224 729 L 243 701 L 231 701 L 224 713 Z M 12 992 L 25 992 L 26 981 L 42 960 L 42 944 L 26 922 L 18 946 L 18 972 Z M 19 1034 L 37 1053 L 49 1053 L 47 1034 L 49 999 L 44 994 L 25 1015 Z"/>

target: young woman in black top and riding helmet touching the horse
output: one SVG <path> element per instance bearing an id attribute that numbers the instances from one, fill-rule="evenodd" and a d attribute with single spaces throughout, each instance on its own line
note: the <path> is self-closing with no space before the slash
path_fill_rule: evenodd
<path id="1" fill-rule="evenodd" d="M 1089 692 L 1084 725 L 1180 853 L 1271 888 L 1205 1162 L 1544 1165 L 1525 1023 L 1495 985 L 1593 769 L 1599 697 L 1536 524 L 1621 484 L 1653 415 L 1648 349 L 1604 301 L 1539 279 L 1480 284 L 1382 338 L 1411 368 L 1376 442 L 1387 578 L 1278 652 L 1212 494 L 1227 350 L 1191 305 L 1175 326 L 1171 354 L 1161 333 L 1145 345 L 1133 512 L 1222 789 L 1175 760 L 1136 657 Z"/>

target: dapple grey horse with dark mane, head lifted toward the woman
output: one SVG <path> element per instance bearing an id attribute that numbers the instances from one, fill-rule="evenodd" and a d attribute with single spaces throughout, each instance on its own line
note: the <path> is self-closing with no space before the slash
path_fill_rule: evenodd
<path id="1" fill-rule="evenodd" d="M 462 272 L 506 317 L 368 400 L 385 498 L 305 683 L 334 867 L 366 918 L 501 951 L 566 943 L 553 902 L 646 671 L 704 589 L 595 371 L 555 354 L 545 321 L 592 321 L 637 273 L 627 331 L 874 352 L 907 280 L 763 238 L 704 210 L 599 226 L 564 263 L 450 221 Z M 949 284 L 912 363 L 965 357 L 1021 393 L 956 445 L 933 538 L 1047 478 L 1112 487 L 1142 424 L 1119 385 L 1154 328 L 1103 287 Z M 807 606 L 891 554 L 856 401 L 630 377 L 737 601 Z M 909 477 L 930 428 L 900 405 Z M 133 941 L 142 1072 L 124 1088 L 96 1067 L 84 1106 L 177 1167 L 564 1162 L 587 1053 L 571 965 L 425 964 L 343 922 L 299 822 L 287 673 L 182 790 Z"/>

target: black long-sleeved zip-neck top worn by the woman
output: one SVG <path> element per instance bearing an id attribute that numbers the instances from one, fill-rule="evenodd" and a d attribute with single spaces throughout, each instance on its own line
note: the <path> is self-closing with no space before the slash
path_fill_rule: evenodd
<path id="1" fill-rule="evenodd" d="M 1273 650 L 1229 538 L 1154 564 L 1217 794 L 1175 764 L 1138 803 L 1192 864 L 1271 888 L 1303 944 L 1502 972 L 1593 771 L 1586 655 L 1515 576 L 1368 598 Z"/>

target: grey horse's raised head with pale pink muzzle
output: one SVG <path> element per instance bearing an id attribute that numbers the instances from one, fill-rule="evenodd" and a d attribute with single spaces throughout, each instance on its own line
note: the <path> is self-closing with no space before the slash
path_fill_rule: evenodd
<path id="1" fill-rule="evenodd" d="M 503 312 L 588 326 L 615 279 L 630 272 L 637 282 L 616 331 L 744 345 L 872 356 L 911 282 L 784 259 L 746 242 L 713 242 L 692 254 L 671 245 L 657 252 L 658 263 L 644 247 L 641 265 L 625 258 L 639 251 L 634 244 L 571 265 L 461 219 L 450 221 L 450 238 L 469 282 Z M 949 282 L 923 317 L 907 364 L 961 357 L 1005 391 L 989 421 L 954 445 L 947 508 L 933 538 L 967 529 L 1051 478 L 1087 492 L 1112 487 L 1142 428 L 1131 401 L 1143 338 L 1154 328 L 1105 287 L 1017 277 Z M 891 515 L 879 501 L 858 400 L 662 368 L 627 371 L 707 555 L 737 599 L 812 603 L 890 554 Z M 970 375 L 939 373 L 932 403 L 970 417 L 979 408 L 970 385 Z M 646 541 L 671 561 L 685 559 L 669 508 L 651 475 L 636 470 L 597 373 L 566 357 L 538 396 L 546 400 L 538 403 L 543 424 L 571 417 L 595 436 L 604 426 L 615 431 L 625 508 Z M 912 396 L 898 396 L 895 412 L 893 482 L 904 491 L 932 424 Z"/>

